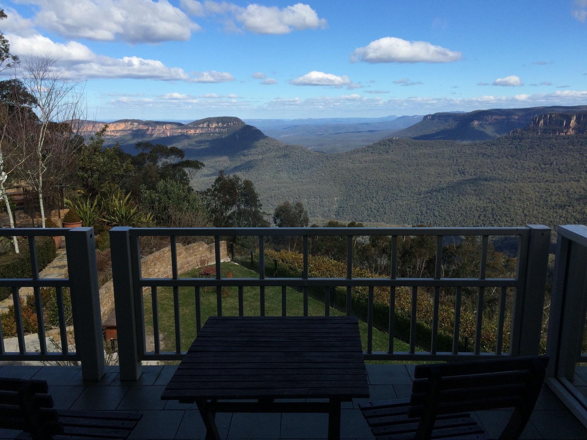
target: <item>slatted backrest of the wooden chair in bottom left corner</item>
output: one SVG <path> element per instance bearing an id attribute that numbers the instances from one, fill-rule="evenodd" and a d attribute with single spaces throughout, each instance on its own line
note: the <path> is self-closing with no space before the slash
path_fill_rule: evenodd
<path id="1" fill-rule="evenodd" d="M 47 394 L 44 380 L 0 377 L 0 428 L 18 429 L 33 440 L 48 440 L 61 434 L 63 427 Z"/>

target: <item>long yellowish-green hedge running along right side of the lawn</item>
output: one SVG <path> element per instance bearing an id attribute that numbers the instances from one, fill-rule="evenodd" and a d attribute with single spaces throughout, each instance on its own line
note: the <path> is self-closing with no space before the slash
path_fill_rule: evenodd
<path id="1" fill-rule="evenodd" d="M 258 255 L 257 255 L 258 260 Z M 276 262 L 276 276 L 299 277 L 303 269 L 303 255 L 288 251 L 265 250 L 265 261 L 271 265 L 270 260 Z M 270 266 L 271 267 L 271 266 Z M 274 266 L 275 267 L 275 266 Z M 308 256 L 308 276 L 320 278 L 345 278 L 346 263 L 326 258 L 324 256 Z M 373 275 L 366 269 L 353 268 L 353 277 L 383 277 Z M 346 304 L 346 287 L 335 287 L 334 297 L 330 303 Z M 331 290 L 331 291 L 332 291 Z M 318 300 L 324 300 L 322 288 L 311 288 L 309 294 Z M 463 296 L 465 292 L 463 292 Z M 351 307 L 353 314 L 361 319 L 367 319 L 367 287 L 355 287 L 352 290 Z M 373 325 L 380 330 L 389 329 L 389 287 L 375 287 L 373 289 Z M 465 302 L 463 302 L 464 304 Z M 429 292 L 420 287 L 416 302 L 416 344 L 425 350 L 430 350 L 434 302 Z M 411 316 L 411 289 L 396 288 L 396 307 L 394 316 L 394 336 L 409 341 Z M 465 337 L 473 345 L 475 339 L 476 310 L 464 310 L 461 307 L 460 317 L 460 350 L 465 350 Z M 504 320 L 503 351 L 508 351 L 510 341 L 510 320 Z M 437 351 L 452 351 L 453 349 L 454 305 L 438 304 L 438 336 Z M 497 342 L 497 317 L 483 316 L 481 327 L 481 351 L 495 351 Z"/>

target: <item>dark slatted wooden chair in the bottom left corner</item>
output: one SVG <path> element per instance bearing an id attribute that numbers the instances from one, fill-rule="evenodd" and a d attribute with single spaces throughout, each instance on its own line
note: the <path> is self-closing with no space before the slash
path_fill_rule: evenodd
<path id="1" fill-rule="evenodd" d="M 0 428 L 23 431 L 18 439 L 126 439 L 140 413 L 65 411 L 53 408 L 44 380 L 0 377 Z"/>

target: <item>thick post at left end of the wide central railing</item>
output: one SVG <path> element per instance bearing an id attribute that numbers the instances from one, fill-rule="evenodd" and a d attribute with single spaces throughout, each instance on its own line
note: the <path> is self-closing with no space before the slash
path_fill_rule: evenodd
<path id="1" fill-rule="evenodd" d="M 129 231 L 128 226 L 116 226 L 110 229 L 110 255 L 112 256 L 120 379 L 128 381 L 138 380 L 142 372 L 137 346 Z"/>

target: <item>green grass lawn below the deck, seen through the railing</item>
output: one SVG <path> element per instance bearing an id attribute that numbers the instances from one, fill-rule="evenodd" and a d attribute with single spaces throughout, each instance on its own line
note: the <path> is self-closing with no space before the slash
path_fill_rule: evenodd
<path id="1" fill-rule="evenodd" d="M 235 278 L 258 278 L 259 274 L 237 263 L 221 263 L 222 276 L 232 272 Z M 180 277 L 198 277 L 200 269 L 194 269 L 180 275 Z M 181 321 L 181 348 L 187 350 L 195 338 L 195 295 L 194 287 L 180 287 L 180 321 Z M 209 288 L 207 292 L 201 289 L 202 324 L 208 316 L 217 315 L 216 290 Z M 159 310 L 159 331 L 161 351 L 175 351 L 175 320 L 173 314 L 173 290 L 171 287 L 157 289 Z M 259 287 L 244 287 L 243 307 L 245 316 L 259 316 Z M 286 294 L 286 309 L 288 316 L 303 315 L 303 295 L 288 287 Z M 153 312 L 151 295 L 144 295 L 144 313 L 147 331 L 147 351 L 152 351 L 153 339 Z M 222 314 L 224 316 L 238 316 L 238 289 L 231 288 L 231 295 L 222 299 Z M 308 314 L 310 316 L 324 316 L 324 303 L 311 297 L 308 298 Z M 345 313 L 330 307 L 332 316 L 341 316 Z M 265 287 L 265 315 L 281 316 L 281 287 Z M 367 347 L 367 323 L 359 320 L 359 329 L 363 341 L 363 350 Z M 373 351 L 387 351 L 387 333 L 373 329 Z M 409 345 L 402 340 L 394 340 L 394 350 L 409 351 Z"/>

